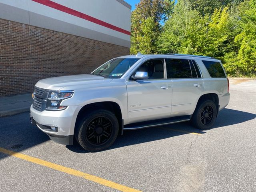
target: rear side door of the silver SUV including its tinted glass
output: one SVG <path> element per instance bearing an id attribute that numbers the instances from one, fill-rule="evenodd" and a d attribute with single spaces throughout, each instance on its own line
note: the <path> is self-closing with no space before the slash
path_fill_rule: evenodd
<path id="1" fill-rule="evenodd" d="M 189 59 L 166 59 L 167 79 L 172 80 L 171 116 L 191 115 L 199 97 L 204 92 L 204 83 L 198 66 Z"/>

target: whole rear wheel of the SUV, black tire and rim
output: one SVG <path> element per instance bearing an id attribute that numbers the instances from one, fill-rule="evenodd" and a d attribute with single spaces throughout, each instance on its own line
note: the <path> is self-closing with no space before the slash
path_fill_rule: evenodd
<path id="1" fill-rule="evenodd" d="M 211 100 L 206 100 L 196 107 L 191 121 L 196 128 L 207 130 L 214 124 L 216 115 L 216 104 Z"/>

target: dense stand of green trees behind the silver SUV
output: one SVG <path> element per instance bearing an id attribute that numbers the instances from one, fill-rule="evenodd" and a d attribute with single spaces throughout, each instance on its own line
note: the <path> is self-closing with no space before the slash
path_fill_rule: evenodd
<path id="1" fill-rule="evenodd" d="M 142 0 L 131 31 L 132 54 L 214 56 L 229 76 L 256 76 L 256 0 Z"/>

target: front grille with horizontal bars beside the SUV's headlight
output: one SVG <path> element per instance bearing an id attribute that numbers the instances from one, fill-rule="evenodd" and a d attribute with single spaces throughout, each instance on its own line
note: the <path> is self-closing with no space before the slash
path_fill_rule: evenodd
<path id="1" fill-rule="evenodd" d="M 35 87 L 33 94 L 34 94 L 33 108 L 38 111 L 45 110 L 47 97 L 48 97 L 48 90 Z"/>

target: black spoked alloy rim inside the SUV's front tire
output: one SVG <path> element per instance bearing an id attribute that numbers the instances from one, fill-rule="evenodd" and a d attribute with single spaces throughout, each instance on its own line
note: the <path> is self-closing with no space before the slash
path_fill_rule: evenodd
<path id="1" fill-rule="evenodd" d="M 112 126 L 112 122 L 104 116 L 94 118 L 87 126 L 86 140 L 96 146 L 108 142 L 112 134 Z"/>

